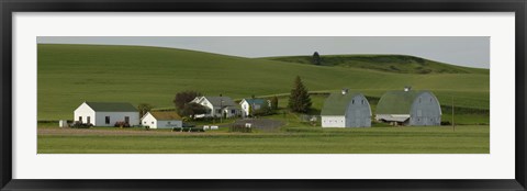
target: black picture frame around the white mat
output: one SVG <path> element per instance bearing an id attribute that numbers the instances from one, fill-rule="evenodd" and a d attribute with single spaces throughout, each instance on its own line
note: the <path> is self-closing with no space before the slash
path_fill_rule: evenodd
<path id="1" fill-rule="evenodd" d="M 2 0 L 1 190 L 526 190 L 525 0 Z M 12 13 L 14 12 L 514 12 L 515 179 L 492 180 L 21 180 L 12 179 Z"/>

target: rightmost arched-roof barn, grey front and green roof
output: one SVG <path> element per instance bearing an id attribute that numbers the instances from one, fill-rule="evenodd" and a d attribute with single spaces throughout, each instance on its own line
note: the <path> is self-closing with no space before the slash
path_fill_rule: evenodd
<path id="1" fill-rule="evenodd" d="M 375 120 L 393 125 L 440 125 L 441 106 L 430 91 L 388 91 L 377 104 Z"/>

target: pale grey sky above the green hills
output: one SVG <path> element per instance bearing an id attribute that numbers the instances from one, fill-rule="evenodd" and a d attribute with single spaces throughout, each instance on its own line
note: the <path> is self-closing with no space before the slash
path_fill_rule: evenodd
<path id="1" fill-rule="evenodd" d="M 240 57 L 402 54 L 490 68 L 489 36 L 38 36 L 38 44 L 141 45 Z"/>

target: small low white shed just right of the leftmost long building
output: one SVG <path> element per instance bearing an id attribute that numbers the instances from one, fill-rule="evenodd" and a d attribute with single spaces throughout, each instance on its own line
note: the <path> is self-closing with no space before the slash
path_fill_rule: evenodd
<path id="1" fill-rule="evenodd" d="M 150 128 L 173 128 L 183 126 L 181 116 L 176 112 L 170 111 L 148 112 L 141 119 L 141 124 Z"/>

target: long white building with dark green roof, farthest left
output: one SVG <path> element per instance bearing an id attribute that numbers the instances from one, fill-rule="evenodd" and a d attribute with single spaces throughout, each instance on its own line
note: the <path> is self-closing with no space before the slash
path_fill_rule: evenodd
<path id="1" fill-rule="evenodd" d="M 83 102 L 74 111 L 74 121 L 93 126 L 113 126 L 116 122 L 139 124 L 137 109 L 123 102 Z"/>

